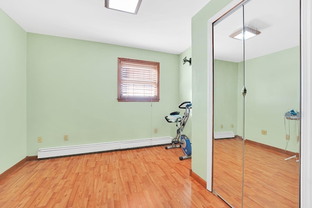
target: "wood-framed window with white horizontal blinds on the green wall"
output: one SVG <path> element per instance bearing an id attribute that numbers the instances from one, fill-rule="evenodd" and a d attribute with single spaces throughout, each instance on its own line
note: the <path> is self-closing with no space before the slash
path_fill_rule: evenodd
<path id="1" fill-rule="evenodd" d="M 118 101 L 159 101 L 159 63 L 118 58 Z"/>

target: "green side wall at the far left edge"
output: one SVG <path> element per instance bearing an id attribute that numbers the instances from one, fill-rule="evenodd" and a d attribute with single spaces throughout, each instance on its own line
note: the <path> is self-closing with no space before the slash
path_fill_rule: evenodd
<path id="1" fill-rule="evenodd" d="M 0 174 L 26 157 L 26 32 L 0 10 Z"/>

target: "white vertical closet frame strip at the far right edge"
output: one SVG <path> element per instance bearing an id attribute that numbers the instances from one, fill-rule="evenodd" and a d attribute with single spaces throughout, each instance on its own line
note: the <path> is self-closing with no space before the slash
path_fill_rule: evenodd
<path id="1" fill-rule="evenodd" d="M 300 207 L 312 205 L 312 2 L 301 0 Z"/>

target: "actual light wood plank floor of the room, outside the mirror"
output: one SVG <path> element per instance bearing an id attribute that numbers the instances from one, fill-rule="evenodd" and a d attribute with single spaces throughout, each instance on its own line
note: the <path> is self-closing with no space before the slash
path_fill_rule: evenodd
<path id="1" fill-rule="evenodd" d="M 0 208 L 227 208 L 179 156 L 161 146 L 29 161 L 0 181 Z"/>

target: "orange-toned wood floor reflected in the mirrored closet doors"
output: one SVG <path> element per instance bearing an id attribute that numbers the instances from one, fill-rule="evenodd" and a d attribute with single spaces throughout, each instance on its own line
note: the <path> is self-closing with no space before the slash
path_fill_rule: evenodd
<path id="1" fill-rule="evenodd" d="M 290 155 L 245 143 L 242 178 L 242 140 L 214 141 L 214 189 L 234 207 L 298 208 L 299 163 Z"/>

